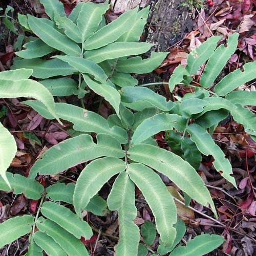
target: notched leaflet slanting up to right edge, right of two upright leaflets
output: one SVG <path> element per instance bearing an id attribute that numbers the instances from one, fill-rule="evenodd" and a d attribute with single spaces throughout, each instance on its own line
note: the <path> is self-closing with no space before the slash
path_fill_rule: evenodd
<path id="1" fill-rule="evenodd" d="M 233 72 L 230 72 L 221 81 L 216 84 L 214 88 L 215 93 L 220 96 L 225 96 L 229 92 L 233 91 L 242 84 L 249 82 L 256 78 L 255 74 L 256 61 L 246 63 L 243 66 L 243 70 L 237 69 Z M 254 98 L 255 99 L 255 98 Z M 254 101 L 255 104 L 255 101 Z"/>

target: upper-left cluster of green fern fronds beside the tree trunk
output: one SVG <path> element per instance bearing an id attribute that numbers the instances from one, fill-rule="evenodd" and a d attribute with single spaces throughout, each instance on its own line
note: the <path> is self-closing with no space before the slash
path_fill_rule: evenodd
<path id="1" fill-rule="evenodd" d="M 12 69 L 33 69 L 33 76 L 54 96 L 75 94 L 81 99 L 87 88 L 104 97 L 119 115 L 118 89 L 136 86 L 130 73 L 148 73 L 157 68 L 167 53 L 152 52 L 151 58 L 127 56 L 147 52 L 153 44 L 138 42 L 149 8 L 127 11 L 106 25 L 103 14 L 108 4 L 79 3 L 66 17 L 58 0 L 40 0 L 51 20 L 19 15 L 22 26 L 36 37 L 28 37 L 25 50 L 16 52 Z M 44 56 L 52 56 L 46 59 Z M 41 59 L 40 57 L 44 57 Z M 75 78 L 56 78 L 76 74 Z M 55 77 L 55 78 L 51 78 Z M 50 79 L 46 79 L 50 78 Z M 78 82 L 77 82 L 77 81 Z"/>

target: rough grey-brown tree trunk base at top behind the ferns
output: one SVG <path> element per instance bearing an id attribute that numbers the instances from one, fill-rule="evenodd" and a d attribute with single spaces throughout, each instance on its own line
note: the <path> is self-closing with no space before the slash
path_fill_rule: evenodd
<path id="1" fill-rule="evenodd" d="M 115 13 L 150 5 L 146 41 L 156 44 L 157 51 L 166 51 L 192 30 L 191 13 L 180 0 L 111 0 L 110 4 Z"/>

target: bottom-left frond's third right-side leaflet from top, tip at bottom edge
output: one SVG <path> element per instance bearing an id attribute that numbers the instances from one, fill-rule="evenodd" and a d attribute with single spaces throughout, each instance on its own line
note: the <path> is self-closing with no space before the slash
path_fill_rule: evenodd
<path id="1" fill-rule="evenodd" d="M 51 237 L 68 255 L 89 256 L 81 241 L 55 222 L 40 217 L 36 226 L 41 232 L 45 232 Z"/>

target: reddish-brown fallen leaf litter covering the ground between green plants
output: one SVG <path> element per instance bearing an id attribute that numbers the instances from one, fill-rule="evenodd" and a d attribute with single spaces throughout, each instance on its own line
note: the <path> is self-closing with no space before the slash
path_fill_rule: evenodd
<path id="1" fill-rule="evenodd" d="M 74 8 L 76 1 L 62 1 L 66 11 Z M 104 1 L 95 1 L 97 3 Z M 44 8 L 38 1 L 2 1 L 0 7 L 10 5 L 14 8 L 13 17 L 16 13 L 30 13 L 36 16 L 46 16 Z M 188 53 L 201 44 L 211 35 L 227 36 L 233 32 L 240 34 L 236 53 L 229 59 L 223 76 L 241 67 L 244 63 L 256 58 L 255 45 L 255 0 L 224 1 L 210 0 L 203 3 L 202 9 L 193 8 L 193 30 L 187 33 L 182 40 L 175 42 L 168 48 L 170 52 L 162 65 L 155 70 L 161 81 L 168 81 L 170 74 L 179 65 L 185 63 Z M 113 19 L 117 14 L 108 12 L 107 17 Z M 178 33 L 178 31 L 177 31 Z M 21 46 L 18 33 L 9 32 L 2 23 L 0 27 L 0 70 L 9 70 L 15 51 Z M 200 73 L 195 76 L 199 81 Z M 255 91 L 256 84 L 251 82 L 240 90 Z M 170 98 L 167 87 L 155 90 L 166 98 Z M 174 95 L 184 95 L 186 90 L 176 87 Z M 58 99 L 60 100 L 60 99 Z M 69 103 L 79 104 L 76 97 L 61 99 Z M 70 124 L 66 123 L 65 129 L 59 127 L 57 122 L 49 121 L 28 106 L 19 104 L 20 99 L 0 99 L 0 118 L 14 135 L 18 152 L 11 164 L 13 173 L 28 175 L 30 167 L 38 155 L 47 148 L 68 138 L 67 129 Z M 99 105 L 100 102 L 100 105 Z M 91 95 L 84 99 L 88 109 L 99 110 L 99 114 L 107 117 L 111 114 L 109 104 L 101 101 L 97 95 Z M 253 109 L 252 109 L 253 110 Z M 254 111 L 256 109 L 254 108 Z M 177 205 L 179 216 L 185 221 L 187 231 L 185 238 L 189 239 L 197 234 L 216 233 L 225 238 L 224 244 L 208 255 L 253 255 L 256 241 L 256 194 L 255 194 L 255 159 L 256 145 L 244 132 L 243 126 L 229 119 L 216 128 L 214 140 L 221 146 L 226 157 L 233 167 L 234 178 L 238 189 L 222 178 L 212 169 L 212 159 L 204 156 L 199 168 L 199 174 L 208 186 L 218 210 L 219 219 L 215 220 L 211 212 L 202 205 L 192 202 L 191 207 Z M 159 146 L 166 148 L 164 132 L 155 136 Z M 44 186 L 53 184 L 58 180 L 75 182 L 77 173 L 83 169 L 83 164 L 73 167 L 65 174 L 57 176 L 38 177 L 37 180 Z M 165 180 L 164 180 L 165 181 Z M 165 181 L 166 185 L 172 185 Z M 109 186 L 105 185 L 100 190 L 100 196 L 106 198 Z M 145 221 L 154 221 L 152 212 L 145 203 L 143 196 L 136 195 L 138 215 L 135 219 L 137 225 Z M 21 214 L 35 214 L 38 201 L 29 200 L 24 195 L 15 196 L 12 193 L 0 191 L 0 222 L 11 216 Z M 106 216 L 97 217 L 88 213 L 87 220 L 94 227 L 95 236 L 91 240 L 83 241 L 92 255 L 113 255 L 114 246 L 118 240 L 118 221 L 116 215 L 108 213 Z M 100 230 L 100 231 L 99 231 Z M 1 234 L 0 234 L 1 236 Z M 9 246 L 0 250 L 0 255 L 24 255 L 28 247 L 28 237 L 23 237 Z M 157 250 L 158 238 L 151 246 L 152 252 Z M 150 255 L 150 254 L 149 254 Z M 254 254 L 255 255 L 255 254 Z"/>

